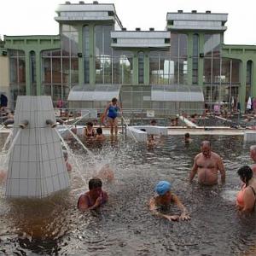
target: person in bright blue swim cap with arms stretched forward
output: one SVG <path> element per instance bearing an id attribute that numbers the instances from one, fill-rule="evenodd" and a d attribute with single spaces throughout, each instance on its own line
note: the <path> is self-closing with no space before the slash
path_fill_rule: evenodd
<path id="1" fill-rule="evenodd" d="M 171 183 L 167 181 L 160 181 L 156 184 L 154 188 L 157 196 L 152 197 L 149 201 L 149 210 L 155 215 L 167 218 L 168 220 L 189 220 L 189 213 L 186 207 L 183 206 L 182 202 L 178 199 L 177 195 L 171 192 Z M 168 207 L 171 203 L 177 205 L 177 207 L 182 211 L 180 215 L 167 215 L 158 211 L 160 207 Z"/>

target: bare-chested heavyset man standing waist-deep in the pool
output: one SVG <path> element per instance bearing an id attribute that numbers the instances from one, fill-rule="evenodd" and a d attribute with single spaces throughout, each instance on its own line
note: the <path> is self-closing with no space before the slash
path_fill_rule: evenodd
<path id="1" fill-rule="evenodd" d="M 189 182 L 192 182 L 197 173 L 198 183 L 203 185 L 214 185 L 218 183 L 218 171 L 221 182 L 225 182 L 224 164 L 220 156 L 211 149 L 209 141 L 201 143 L 201 153 L 195 156 L 194 166 L 189 173 Z"/>

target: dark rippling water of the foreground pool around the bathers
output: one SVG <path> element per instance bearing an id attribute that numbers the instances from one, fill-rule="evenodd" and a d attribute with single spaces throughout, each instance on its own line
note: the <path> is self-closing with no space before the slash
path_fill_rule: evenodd
<path id="1" fill-rule="evenodd" d="M 1 135 L 1 147 L 5 138 Z M 256 216 L 240 217 L 235 197 L 240 188 L 236 170 L 251 163 L 250 145 L 239 136 L 192 138 L 188 146 L 183 136 L 166 137 L 154 149 L 121 138 L 103 146 L 87 144 L 94 159 L 75 146 L 81 167 L 74 167 L 71 189 L 42 201 L 7 200 L 0 187 L 0 255 L 249 255 L 256 241 Z M 186 182 L 204 139 L 224 159 L 224 186 L 201 188 Z M 87 182 L 105 163 L 115 173 L 115 181 L 103 185 L 108 204 L 79 212 L 77 200 L 88 189 L 83 179 Z M 189 222 L 169 222 L 148 211 L 154 185 L 163 179 L 172 181 L 173 192 L 190 212 Z"/>

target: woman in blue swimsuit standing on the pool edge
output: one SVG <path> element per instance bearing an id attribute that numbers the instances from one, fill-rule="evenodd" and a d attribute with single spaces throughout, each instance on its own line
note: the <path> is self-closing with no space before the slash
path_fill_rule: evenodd
<path id="1" fill-rule="evenodd" d="M 122 110 L 121 108 L 119 108 L 117 98 L 113 98 L 112 101 L 106 107 L 103 115 L 104 119 L 106 116 L 108 116 L 111 136 L 113 136 L 113 131 L 115 136 L 117 136 L 117 133 L 118 133 L 118 119 L 117 119 L 118 112 L 122 113 Z"/>

